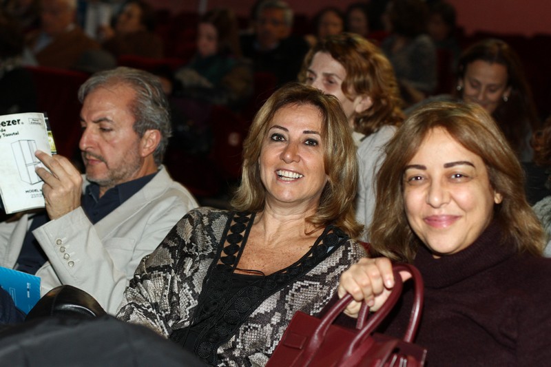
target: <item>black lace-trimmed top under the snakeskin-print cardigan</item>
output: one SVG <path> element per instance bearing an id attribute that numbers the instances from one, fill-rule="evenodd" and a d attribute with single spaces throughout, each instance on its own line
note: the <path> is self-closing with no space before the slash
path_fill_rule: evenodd
<path id="1" fill-rule="evenodd" d="M 191 326 L 170 335 L 170 339 L 184 346 L 189 329 L 198 331 L 194 353 L 209 364 L 216 364 L 218 347 L 237 333 L 267 297 L 313 269 L 348 239 L 340 229 L 329 226 L 300 260 L 270 275 L 251 276 L 251 282 L 236 291 L 231 278 L 247 243 L 255 213 L 232 214 L 218 246 L 218 260 L 211 264 L 203 281 Z"/>

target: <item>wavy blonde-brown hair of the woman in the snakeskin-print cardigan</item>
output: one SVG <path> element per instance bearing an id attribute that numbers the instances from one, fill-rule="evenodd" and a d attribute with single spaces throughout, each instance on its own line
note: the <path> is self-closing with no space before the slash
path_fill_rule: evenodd
<path id="1" fill-rule="evenodd" d="M 290 83 L 275 91 L 256 114 L 243 143 L 241 185 L 231 200 L 239 211 L 262 211 L 266 189 L 260 180 L 260 151 L 276 112 L 289 105 L 311 105 L 322 116 L 324 167 L 329 180 L 322 191 L 320 205 L 306 221 L 316 228 L 335 224 L 350 238 L 357 238 L 363 226 L 355 220 L 357 187 L 356 149 L 340 102 L 308 85 Z"/>

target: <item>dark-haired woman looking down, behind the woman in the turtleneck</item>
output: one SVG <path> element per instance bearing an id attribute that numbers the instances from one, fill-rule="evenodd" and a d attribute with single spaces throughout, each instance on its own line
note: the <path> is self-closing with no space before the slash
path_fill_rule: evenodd
<path id="1" fill-rule="evenodd" d="M 517 52 L 499 39 L 471 45 L 459 58 L 457 96 L 496 120 L 521 162 L 532 160 L 530 139 L 539 118 Z"/>

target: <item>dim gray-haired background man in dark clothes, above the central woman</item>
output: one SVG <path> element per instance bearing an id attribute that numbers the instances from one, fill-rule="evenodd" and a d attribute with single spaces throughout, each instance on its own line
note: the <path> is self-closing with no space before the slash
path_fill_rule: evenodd
<path id="1" fill-rule="evenodd" d="M 292 34 L 293 10 L 280 0 L 258 5 L 255 34 L 240 36 L 243 56 L 251 59 L 255 72 L 269 72 L 283 85 L 295 81 L 309 44 Z"/>

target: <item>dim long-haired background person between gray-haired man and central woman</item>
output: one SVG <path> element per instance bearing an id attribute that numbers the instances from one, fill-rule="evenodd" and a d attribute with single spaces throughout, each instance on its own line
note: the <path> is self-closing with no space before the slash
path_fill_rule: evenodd
<path id="1" fill-rule="evenodd" d="M 197 53 L 191 61 L 176 72 L 169 67 L 154 71 L 161 78 L 171 107 L 174 134 L 167 165 L 180 162 L 183 153 L 211 153 L 215 143 L 211 123 L 214 105 L 240 112 L 249 101 L 253 67 L 240 55 L 235 14 L 228 8 L 215 8 L 199 19 Z M 180 178 L 178 173 L 174 176 Z"/>

